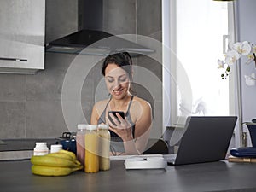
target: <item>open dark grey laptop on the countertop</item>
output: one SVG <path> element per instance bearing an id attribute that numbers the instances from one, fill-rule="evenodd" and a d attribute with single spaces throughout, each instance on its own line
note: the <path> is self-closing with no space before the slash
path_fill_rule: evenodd
<path id="1" fill-rule="evenodd" d="M 168 165 L 224 160 L 236 120 L 236 116 L 188 117 L 177 154 L 166 157 Z"/>

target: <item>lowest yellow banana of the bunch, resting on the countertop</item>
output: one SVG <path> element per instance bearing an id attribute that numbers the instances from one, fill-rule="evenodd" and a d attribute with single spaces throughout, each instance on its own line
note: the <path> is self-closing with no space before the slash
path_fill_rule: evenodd
<path id="1" fill-rule="evenodd" d="M 35 166 L 32 165 L 32 173 L 41 176 L 66 176 L 72 172 L 81 169 L 81 167 L 55 167 L 55 166 Z"/>

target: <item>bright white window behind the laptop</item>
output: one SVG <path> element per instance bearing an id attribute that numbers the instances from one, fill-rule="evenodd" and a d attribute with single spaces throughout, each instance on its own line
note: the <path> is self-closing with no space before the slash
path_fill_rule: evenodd
<path id="1" fill-rule="evenodd" d="M 164 125 L 176 125 L 186 115 L 235 113 L 230 104 L 234 102 L 233 78 L 221 79 L 217 63 L 226 49 L 222 43 L 234 38 L 233 4 L 212 0 L 162 3 Z"/>

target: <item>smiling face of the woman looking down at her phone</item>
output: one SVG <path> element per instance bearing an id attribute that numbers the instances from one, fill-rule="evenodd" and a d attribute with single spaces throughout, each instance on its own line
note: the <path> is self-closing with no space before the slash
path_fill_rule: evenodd
<path id="1" fill-rule="evenodd" d="M 107 84 L 108 92 L 115 99 L 124 98 L 130 88 L 128 73 L 115 63 L 109 63 L 106 67 L 105 82 Z"/>

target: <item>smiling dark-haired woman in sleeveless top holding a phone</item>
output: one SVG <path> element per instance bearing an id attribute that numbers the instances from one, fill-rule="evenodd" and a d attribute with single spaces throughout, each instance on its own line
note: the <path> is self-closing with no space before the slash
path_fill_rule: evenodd
<path id="1" fill-rule="evenodd" d="M 102 75 L 111 97 L 96 102 L 90 123 L 109 125 L 111 146 L 117 154 L 142 154 L 148 143 L 152 112 L 148 102 L 132 95 L 131 55 L 127 52 L 108 55 L 102 65 Z M 119 113 L 117 118 L 113 113 L 108 116 L 109 111 L 123 111 L 125 119 Z"/>

